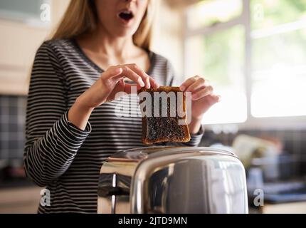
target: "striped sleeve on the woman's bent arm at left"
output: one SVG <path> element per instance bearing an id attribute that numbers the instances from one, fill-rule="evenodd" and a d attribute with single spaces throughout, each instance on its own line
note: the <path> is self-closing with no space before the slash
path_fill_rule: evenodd
<path id="1" fill-rule="evenodd" d="M 43 43 L 36 53 L 26 110 L 26 175 L 46 186 L 68 169 L 91 131 L 68 122 L 65 83 L 55 51 Z"/>

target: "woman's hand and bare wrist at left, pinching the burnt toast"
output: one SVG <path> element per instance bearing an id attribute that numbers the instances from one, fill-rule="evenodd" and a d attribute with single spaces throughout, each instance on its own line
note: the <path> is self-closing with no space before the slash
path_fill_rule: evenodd
<path id="1" fill-rule="evenodd" d="M 84 130 L 94 108 L 102 103 L 114 100 L 119 92 L 131 93 L 131 88 L 135 85 L 125 83 L 125 78 L 134 81 L 137 90 L 144 86 L 146 88 L 159 87 L 154 79 L 148 76 L 136 64 L 111 66 L 102 73 L 93 86 L 75 100 L 75 103 L 69 110 L 68 120 L 73 125 Z"/>

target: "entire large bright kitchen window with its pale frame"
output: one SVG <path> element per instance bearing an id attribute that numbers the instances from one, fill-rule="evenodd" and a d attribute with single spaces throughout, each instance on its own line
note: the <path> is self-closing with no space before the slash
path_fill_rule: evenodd
<path id="1" fill-rule="evenodd" d="M 306 115 L 305 0 L 200 1 L 185 34 L 185 75 L 222 96 L 203 123 Z"/>

